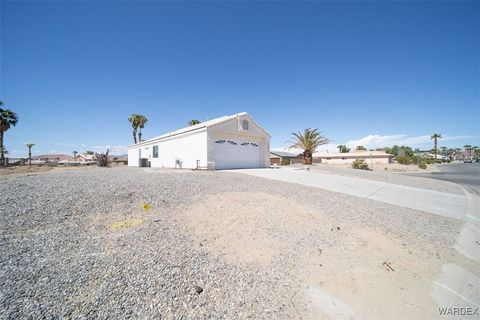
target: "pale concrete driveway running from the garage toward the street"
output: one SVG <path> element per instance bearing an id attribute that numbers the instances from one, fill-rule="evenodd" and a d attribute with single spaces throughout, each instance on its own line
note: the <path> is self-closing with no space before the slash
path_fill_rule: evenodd
<path id="1" fill-rule="evenodd" d="M 466 212 L 465 197 L 457 194 L 293 168 L 241 169 L 230 172 L 346 193 L 453 219 L 462 220 Z"/>

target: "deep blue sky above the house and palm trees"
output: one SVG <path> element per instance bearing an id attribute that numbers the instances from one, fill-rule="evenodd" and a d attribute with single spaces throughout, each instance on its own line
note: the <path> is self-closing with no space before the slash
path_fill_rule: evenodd
<path id="1" fill-rule="evenodd" d="M 189 119 L 249 112 L 282 147 L 479 145 L 479 3 L 2 1 L 12 155 L 124 153 Z"/>

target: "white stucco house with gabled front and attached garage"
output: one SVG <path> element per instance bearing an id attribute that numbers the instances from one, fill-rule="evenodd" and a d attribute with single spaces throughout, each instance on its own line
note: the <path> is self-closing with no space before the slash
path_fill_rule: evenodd
<path id="1" fill-rule="evenodd" d="M 128 165 L 191 169 L 269 167 L 270 134 L 242 112 L 130 145 Z"/>

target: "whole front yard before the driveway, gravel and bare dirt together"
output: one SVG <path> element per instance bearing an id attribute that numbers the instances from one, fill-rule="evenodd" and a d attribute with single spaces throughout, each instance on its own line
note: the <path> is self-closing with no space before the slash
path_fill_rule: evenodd
<path id="1" fill-rule="evenodd" d="M 227 172 L 7 176 L 0 214 L 2 319 L 430 317 L 464 259 L 461 222 Z"/>

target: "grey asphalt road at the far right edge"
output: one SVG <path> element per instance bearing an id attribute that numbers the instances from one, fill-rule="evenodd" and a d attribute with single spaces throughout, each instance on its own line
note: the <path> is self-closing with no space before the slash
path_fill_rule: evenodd
<path id="1" fill-rule="evenodd" d="M 437 166 L 439 172 L 411 174 L 438 180 L 446 180 L 462 185 L 480 195 L 480 163 L 451 163 Z"/>

